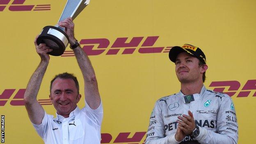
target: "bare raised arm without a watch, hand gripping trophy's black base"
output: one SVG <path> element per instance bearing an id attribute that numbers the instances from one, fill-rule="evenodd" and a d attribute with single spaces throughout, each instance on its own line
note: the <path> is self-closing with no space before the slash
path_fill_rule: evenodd
<path id="1" fill-rule="evenodd" d="M 34 44 L 36 46 L 37 53 L 41 57 L 41 62 L 27 84 L 24 101 L 30 121 L 34 124 L 41 124 L 44 117 L 44 110 L 37 101 L 37 94 L 50 60 L 50 56 L 47 53 L 52 51 L 52 49 L 46 47 L 46 44 L 44 43 L 41 43 L 38 46 L 36 41 L 37 38 L 34 40 Z"/>

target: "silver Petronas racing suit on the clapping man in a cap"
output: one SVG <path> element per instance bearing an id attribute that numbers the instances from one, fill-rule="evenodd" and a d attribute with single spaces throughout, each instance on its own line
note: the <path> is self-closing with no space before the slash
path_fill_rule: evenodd
<path id="1" fill-rule="evenodd" d="M 238 123 L 232 99 L 224 93 L 202 87 L 200 94 L 193 94 L 194 101 L 185 103 L 180 91 L 160 98 L 150 116 L 145 144 L 237 144 Z M 182 114 L 193 113 L 200 134 L 192 139 L 187 135 L 181 142 L 175 139 Z"/>

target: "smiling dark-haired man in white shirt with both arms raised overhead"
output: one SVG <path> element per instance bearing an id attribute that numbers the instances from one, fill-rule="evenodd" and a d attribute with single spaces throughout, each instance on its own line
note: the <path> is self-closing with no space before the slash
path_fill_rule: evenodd
<path id="1" fill-rule="evenodd" d="M 78 80 L 73 74 L 56 75 L 50 85 L 50 100 L 56 109 L 56 118 L 46 114 L 37 101 L 37 94 L 49 64 L 52 49 L 34 41 L 41 62 L 30 78 L 24 95 L 25 107 L 30 121 L 46 144 L 100 144 L 103 108 L 94 69 L 80 44 L 74 37 L 72 18 L 58 23 L 66 28 L 85 82 L 85 107 L 77 106 L 80 101 Z"/>

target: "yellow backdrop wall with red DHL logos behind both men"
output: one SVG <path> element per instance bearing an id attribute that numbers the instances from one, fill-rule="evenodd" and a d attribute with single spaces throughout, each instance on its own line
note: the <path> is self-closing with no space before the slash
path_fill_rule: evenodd
<path id="1" fill-rule="evenodd" d="M 40 62 L 34 38 L 44 26 L 57 23 L 66 0 L 8 1 L 0 0 L 0 114 L 5 115 L 5 143 L 43 144 L 22 98 Z M 229 94 L 238 117 L 239 143 L 253 144 L 255 5 L 255 0 L 91 0 L 74 21 L 75 37 L 91 53 L 96 72 L 104 107 L 102 142 L 144 143 L 155 101 L 180 89 L 175 66 L 165 52 L 171 46 L 190 43 L 206 54 L 206 87 L 233 92 Z M 156 41 L 146 43 L 147 38 Z M 96 44 L 86 39 L 94 39 Z M 121 40 L 135 42 L 111 48 Z M 102 48 L 97 48 L 100 43 Z M 50 58 L 37 98 L 48 99 L 50 80 L 66 71 L 74 73 L 83 87 L 75 57 L 65 52 Z M 84 100 L 78 105 L 83 107 Z M 55 115 L 53 105 L 43 108 Z"/>

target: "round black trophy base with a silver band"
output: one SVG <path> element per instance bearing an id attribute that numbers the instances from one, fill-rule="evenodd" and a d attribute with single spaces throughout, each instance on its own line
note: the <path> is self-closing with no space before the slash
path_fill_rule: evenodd
<path id="1" fill-rule="evenodd" d="M 43 27 L 41 34 L 37 38 L 37 44 L 45 43 L 46 46 L 53 49 L 49 55 L 62 55 L 69 44 L 68 35 L 61 29 L 55 26 Z"/>

